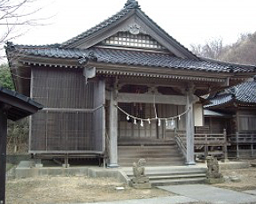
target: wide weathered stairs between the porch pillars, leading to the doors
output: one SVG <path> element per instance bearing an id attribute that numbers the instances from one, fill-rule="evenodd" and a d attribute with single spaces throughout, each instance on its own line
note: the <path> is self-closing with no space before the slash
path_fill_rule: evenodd
<path id="1" fill-rule="evenodd" d="M 140 158 L 146 160 L 146 166 L 180 166 L 184 164 L 184 158 L 180 153 L 175 140 L 141 141 L 140 145 L 129 144 L 118 147 L 119 165 L 121 167 L 132 166 Z"/>

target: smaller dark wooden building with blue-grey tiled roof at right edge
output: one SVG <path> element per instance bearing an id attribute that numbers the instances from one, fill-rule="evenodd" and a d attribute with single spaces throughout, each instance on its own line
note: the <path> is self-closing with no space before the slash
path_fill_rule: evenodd
<path id="1" fill-rule="evenodd" d="M 219 92 L 205 106 L 205 125 L 212 132 L 227 130 L 229 157 L 256 156 L 256 81 L 248 80 Z M 214 116 L 209 114 L 214 111 Z M 219 117 L 217 115 L 222 115 Z"/>

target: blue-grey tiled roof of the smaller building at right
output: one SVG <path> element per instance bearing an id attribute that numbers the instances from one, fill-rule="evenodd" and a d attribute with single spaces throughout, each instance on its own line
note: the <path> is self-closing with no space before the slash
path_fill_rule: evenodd
<path id="1" fill-rule="evenodd" d="M 256 103 L 256 81 L 246 81 L 236 87 L 230 87 L 213 99 L 210 100 L 210 104 L 207 104 L 205 108 L 213 108 L 215 106 L 221 106 L 229 102 L 240 103 Z"/>

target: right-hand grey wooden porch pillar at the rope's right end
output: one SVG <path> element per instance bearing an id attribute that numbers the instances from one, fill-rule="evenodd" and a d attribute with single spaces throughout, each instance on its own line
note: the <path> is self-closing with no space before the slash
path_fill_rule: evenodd
<path id="1" fill-rule="evenodd" d="M 186 114 L 186 139 L 187 139 L 187 165 L 195 165 L 194 159 L 194 110 L 193 110 L 193 94 L 189 90 L 187 92 L 187 109 L 190 109 Z"/>

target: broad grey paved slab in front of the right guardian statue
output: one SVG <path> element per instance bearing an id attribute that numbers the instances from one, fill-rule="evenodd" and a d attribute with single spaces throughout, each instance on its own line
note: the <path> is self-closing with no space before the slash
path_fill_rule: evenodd
<path id="1" fill-rule="evenodd" d="M 256 203 L 256 196 L 210 185 L 169 185 L 159 188 L 212 204 Z"/>

